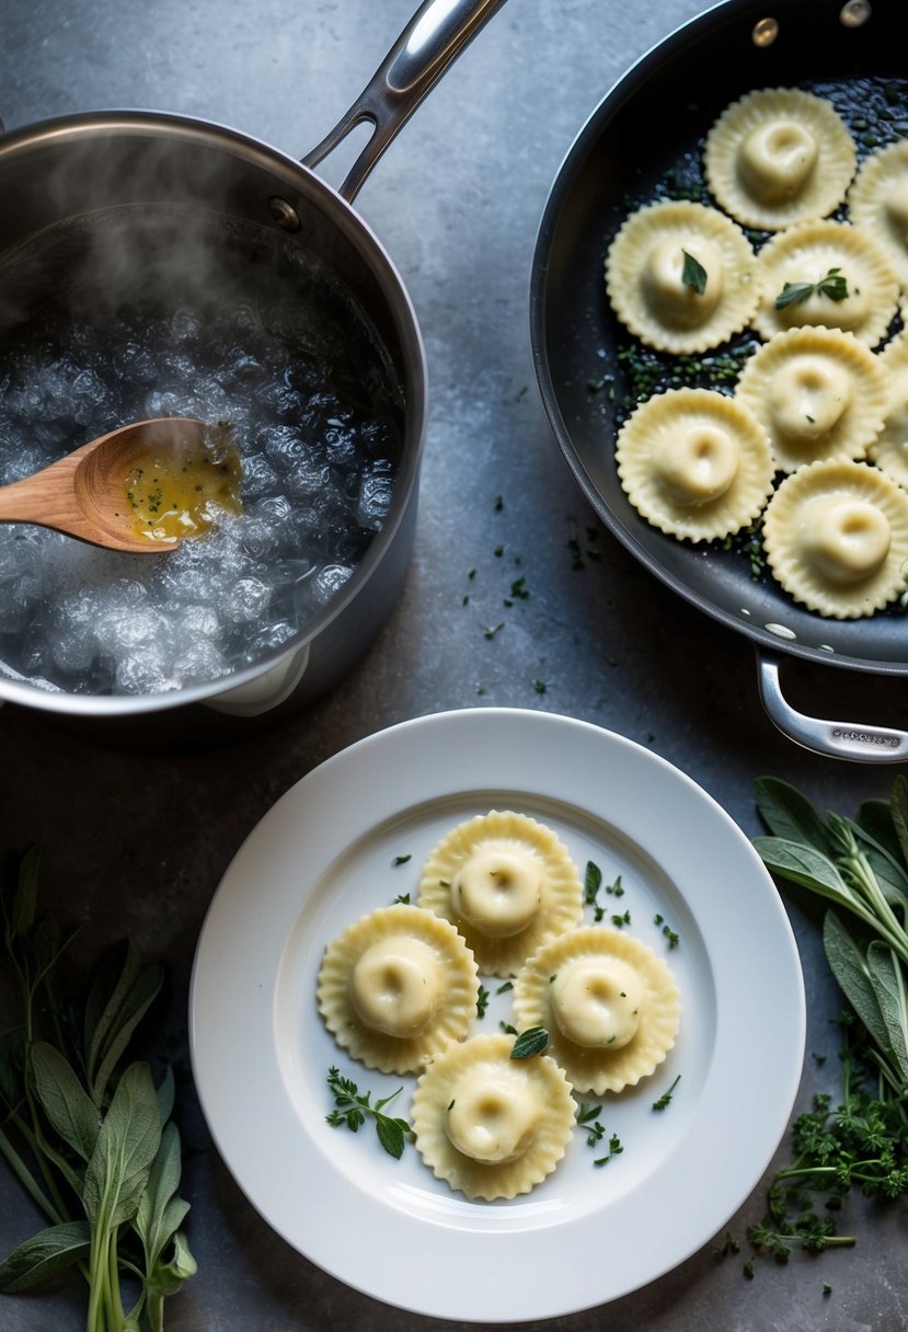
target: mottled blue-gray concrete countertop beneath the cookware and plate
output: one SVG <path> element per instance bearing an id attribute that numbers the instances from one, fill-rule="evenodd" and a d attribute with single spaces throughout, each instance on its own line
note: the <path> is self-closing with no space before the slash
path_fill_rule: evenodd
<path id="1" fill-rule="evenodd" d="M 184 1064 L 196 940 L 233 854 L 294 782 L 395 722 L 475 706 L 582 718 L 676 765 L 748 835 L 759 831 L 754 778 L 763 773 L 788 778 L 841 813 L 888 794 L 893 769 L 821 759 L 774 729 L 758 701 L 751 645 L 656 583 L 599 526 L 554 445 L 534 386 L 527 288 L 557 169 L 614 80 L 700 8 L 698 0 L 510 0 L 363 188 L 358 208 L 398 265 L 421 321 L 431 408 L 406 586 L 343 683 L 277 729 L 202 751 L 138 750 L 47 714 L 0 710 L 0 847 L 44 847 L 45 902 L 81 924 L 77 959 L 132 934 L 144 955 L 166 963 L 170 1039 Z M 13 129 L 105 107 L 168 109 L 301 156 L 345 111 L 410 12 L 410 0 L 254 7 L 5 0 L 0 117 Z M 572 542 L 599 558 L 575 567 Z M 502 615 L 518 566 L 530 597 Z M 499 618 L 503 629 L 486 637 L 483 626 Z M 905 726 L 897 681 L 794 659 L 786 679 L 795 701 L 809 701 L 816 715 Z M 799 904 L 787 899 L 787 906 L 808 996 L 797 1100 L 805 1108 L 815 1090 L 837 1091 L 829 1023 L 839 1003 L 815 923 Z M 744 912 L 742 904 L 742 919 Z M 766 967 L 771 984 L 771 958 Z M 760 1027 L 759 995 L 754 1027 L 742 1039 L 772 1039 Z M 812 1052 L 831 1058 L 819 1068 Z M 760 1088 L 742 1087 L 740 1095 L 759 1098 Z M 188 1079 L 180 1106 L 198 1275 L 168 1305 L 172 1332 L 466 1327 L 387 1308 L 294 1252 L 234 1184 Z M 783 1143 L 779 1160 L 786 1150 Z M 720 1171 L 720 1144 L 718 1154 Z M 743 1239 L 762 1201 L 763 1185 L 731 1219 L 732 1233 Z M 887 1211 L 856 1199 L 849 1217 L 859 1235 L 853 1249 L 796 1257 L 788 1267 L 764 1263 L 748 1281 L 740 1257 L 719 1257 L 708 1244 L 636 1293 L 545 1325 L 563 1332 L 901 1328 L 904 1207 Z M 1 1171 L 0 1251 L 37 1225 Z M 570 1283 L 570 1272 L 553 1277 Z M 0 1304 L 4 1332 L 64 1332 L 83 1320 L 76 1283 Z"/>

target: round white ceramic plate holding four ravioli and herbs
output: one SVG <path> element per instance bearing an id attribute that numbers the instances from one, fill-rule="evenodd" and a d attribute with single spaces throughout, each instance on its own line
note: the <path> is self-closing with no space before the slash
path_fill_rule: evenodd
<path id="1" fill-rule="evenodd" d="M 514 809 L 554 827 L 580 872 L 618 875 L 615 912 L 675 971 L 682 1030 L 634 1091 L 599 1098 L 623 1152 L 575 1132 L 565 1160 L 513 1201 L 469 1203 L 407 1146 L 332 1128 L 332 1064 L 386 1095 L 413 1079 L 365 1070 L 316 1008 L 325 943 L 415 890 L 457 822 Z M 399 856 L 410 856 L 395 864 Z M 612 900 L 612 899 L 608 899 Z M 671 948 L 655 916 L 679 935 Z M 489 990 L 497 982 L 487 982 Z M 479 1031 L 507 1018 L 493 996 Z M 804 990 L 775 886 L 732 819 L 646 749 L 586 722 L 475 709 L 379 731 L 316 769 L 268 813 L 205 920 L 190 996 L 193 1070 L 214 1142 L 253 1205 L 308 1259 L 423 1315 L 507 1323 L 616 1299 L 675 1267 L 735 1213 L 791 1114 Z M 680 1074 L 670 1106 L 652 1102 Z M 592 1099 L 592 1098 L 587 1098 Z M 722 1143 L 722 1168 L 716 1168 Z"/>

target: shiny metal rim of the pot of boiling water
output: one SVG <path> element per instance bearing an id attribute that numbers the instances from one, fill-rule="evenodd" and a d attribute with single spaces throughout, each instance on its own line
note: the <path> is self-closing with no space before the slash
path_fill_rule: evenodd
<path id="1" fill-rule="evenodd" d="M 345 238 L 353 244 L 369 272 L 375 277 L 378 288 L 387 301 L 389 312 L 394 316 L 397 341 L 403 357 L 399 385 L 405 397 L 405 410 L 401 458 L 387 517 L 369 542 L 365 555 L 341 591 L 332 598 L 322 613 L 309 622 L 306 630 L 290 639 L 289 643 L 262 654 L 252 666 L 230 671 L 214 681 L 153 694 L 89 695 L 63 690 L 57 693 L 43 690 L 27 681 L 20 682 L 0 671 L 0 698 L 29 707 L 40 706 L 45 711 L 81 717 L 132 717 L 138 713 L 172 711 L 174 707 L 214 699 L 228 690 L 258 679 L 278 662 L 313 643 L 347 609 L 362 585 L 369 581 L 410 514 L 411 505 L 417 502 L 415 492 L 425 452 L 429 400 L 427 357 L 422 330 L 410 293 L 390 253 L 353 204 L 289 153 L 229 125 L 201 117 L 142 108 L 104 109 L 53 116 L 0 135 L 0 166 L 7 157 L 27 153 L 41 143 L 51 140 L 63 140 L 64 144 L 67 141 L 76 143 L 111 132 L 137 132 L 149 139 L 160 137 L 164 132 L 205 148 L 213 147 L 233 156 L 238 153 L 249 165 L 272 170 L 289 186 L 296 188 L 308 202 L 314 202 L 330 225 L 338 228 Z"/>

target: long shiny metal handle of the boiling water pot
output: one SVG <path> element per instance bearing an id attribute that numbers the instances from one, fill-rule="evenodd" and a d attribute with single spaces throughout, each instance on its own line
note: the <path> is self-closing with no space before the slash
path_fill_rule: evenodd
<path id="1" fill-rule="evenodd" d="M 425 0 L 334 129 L 302 159 L 317 166 L 351 129 L 375 127 L 338 189 L 349 204 L 398 129 L 505 0 Z"/>

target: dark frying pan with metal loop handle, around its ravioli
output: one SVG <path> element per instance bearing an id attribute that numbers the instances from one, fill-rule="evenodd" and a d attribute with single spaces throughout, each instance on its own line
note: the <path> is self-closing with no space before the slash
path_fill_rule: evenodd
<path id="1" fill-rule="evenodd" d="M 739 553 L 704 555 L 635 513 L 614 466 L 626 389 L 618 353 L 628 336 L 608 308 L 603 257 L 635 202 L 664 190 L 667 173 L 679 180 L 699 169 L 710 125 L 752 88 L 799 85 L 831 96 L 844 107 L 859 151 L 899 128 L 908 133 L 903 27 L 897 0 L 726 0 L 671 33 L 607 93 L 570 149 L 539 228 L 530 298 L 543 405 L 598 515 L 668 587 L 752 639 L 763 702 L 787 735 L 817 753 L 865 762 L 903 761 L 908 734 L 795 711 L 782 694 L 779 657 L 905 675 L 904 614 L 823 619 L 768 578 L 754 582 Z M 885 108 L 879 123 L 877 104 Z M 603 372 L 614 394 L 591 389 Z"/>

